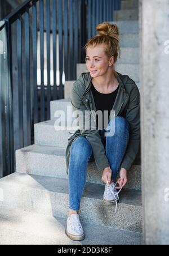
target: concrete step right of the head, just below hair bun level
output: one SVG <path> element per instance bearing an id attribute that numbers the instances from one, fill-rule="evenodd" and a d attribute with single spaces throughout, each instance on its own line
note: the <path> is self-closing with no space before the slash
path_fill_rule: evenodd
<path id="1" fill-rule="evenodd" d="M 121 48 L 127 47 L 139 47 L 139 33 L 126 33 L 120 36 L 120 46 Z"/>

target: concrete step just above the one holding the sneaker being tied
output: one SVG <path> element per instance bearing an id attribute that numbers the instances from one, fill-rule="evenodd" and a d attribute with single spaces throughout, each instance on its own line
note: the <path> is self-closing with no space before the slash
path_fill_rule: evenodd
<path id="1" fill-rule="evenodd" d="M 16 151 L 16 171 L 40 176 L 65 178 L 65 149 L 52 146 L 31 145 Z M 101 173 L 95 162 L 88 163 L 87 182 L 103 185 Z M 141 190 L 141 166 L 133 165 L 128 171 L 126 188 Z"/>

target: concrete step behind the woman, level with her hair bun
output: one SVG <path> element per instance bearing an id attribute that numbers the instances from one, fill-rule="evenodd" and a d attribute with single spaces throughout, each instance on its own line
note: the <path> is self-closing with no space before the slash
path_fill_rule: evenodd
<path id="1" fill-rule="evenodd" d="M 137 20 L 121 20 L 121 21 L 110 21 L 110 24 L 117 24 L 119 28 L 119 33 L 127 34 L 127 33 L 139 33 L 139 22 Z"/>

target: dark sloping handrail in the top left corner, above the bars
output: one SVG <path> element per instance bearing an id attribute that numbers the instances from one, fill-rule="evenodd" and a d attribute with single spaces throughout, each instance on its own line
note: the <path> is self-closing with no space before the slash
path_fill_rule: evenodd
<path id="1" fill-rule="evenodd" d="M 9 22 L 10 24 L 14 23 L 16 19 L 18 18 L 18 15 L 22 15 L 25 12 L 26 7 L 32 7 L 30 3 L 37 2 L 38 0 L 26 0 L 24 3 L 22 3 L 19 7 L 17 7 L 14 11 L 12 11 L 10 14 L 8 14 L 3 20 L 6 22 Z"/>

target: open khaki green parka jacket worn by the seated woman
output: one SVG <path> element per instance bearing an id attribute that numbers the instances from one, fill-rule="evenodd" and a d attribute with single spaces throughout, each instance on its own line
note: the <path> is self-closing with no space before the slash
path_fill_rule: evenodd
<path id="1" fill-rule="evenodd" d="M 130 141 L 121 163 L 121 168 L 129 170 L 134 163 L 140 147 L 140 92 L 134 80 L 132 80 L 128 75 L 122 75 L 117 72 L 117 80 L 120 88 L 112 110 L 115 112 L 114 117 L 124 117 L 130 124 Z M 90 72 L 87 72 L 82 73 L 79 79 L 73 84 L 71 92 L 73 111 L 81 110 L 82 112 L 85 112 L 85 110 L 95 110 L 96 112 L 95 101 L 91 90 L 91 81 L 92 77 Z M 96 122 L 96 120 L 94 120 L 94 122 Z M 79 127 L 81 126 L 79 125 Z M 69 168 L 70 148 L 74 139 L 78 138 L 78 136 L 86 136 L 88 142 L 90 142 L 95 164 L 100 172 L 106 167 L 110 167 L 104 145 L 101 142 L 99 130 L 85 130 L 82 128 L 75 131 L 68 140 L 65 155 L 67 174 Z"/>

